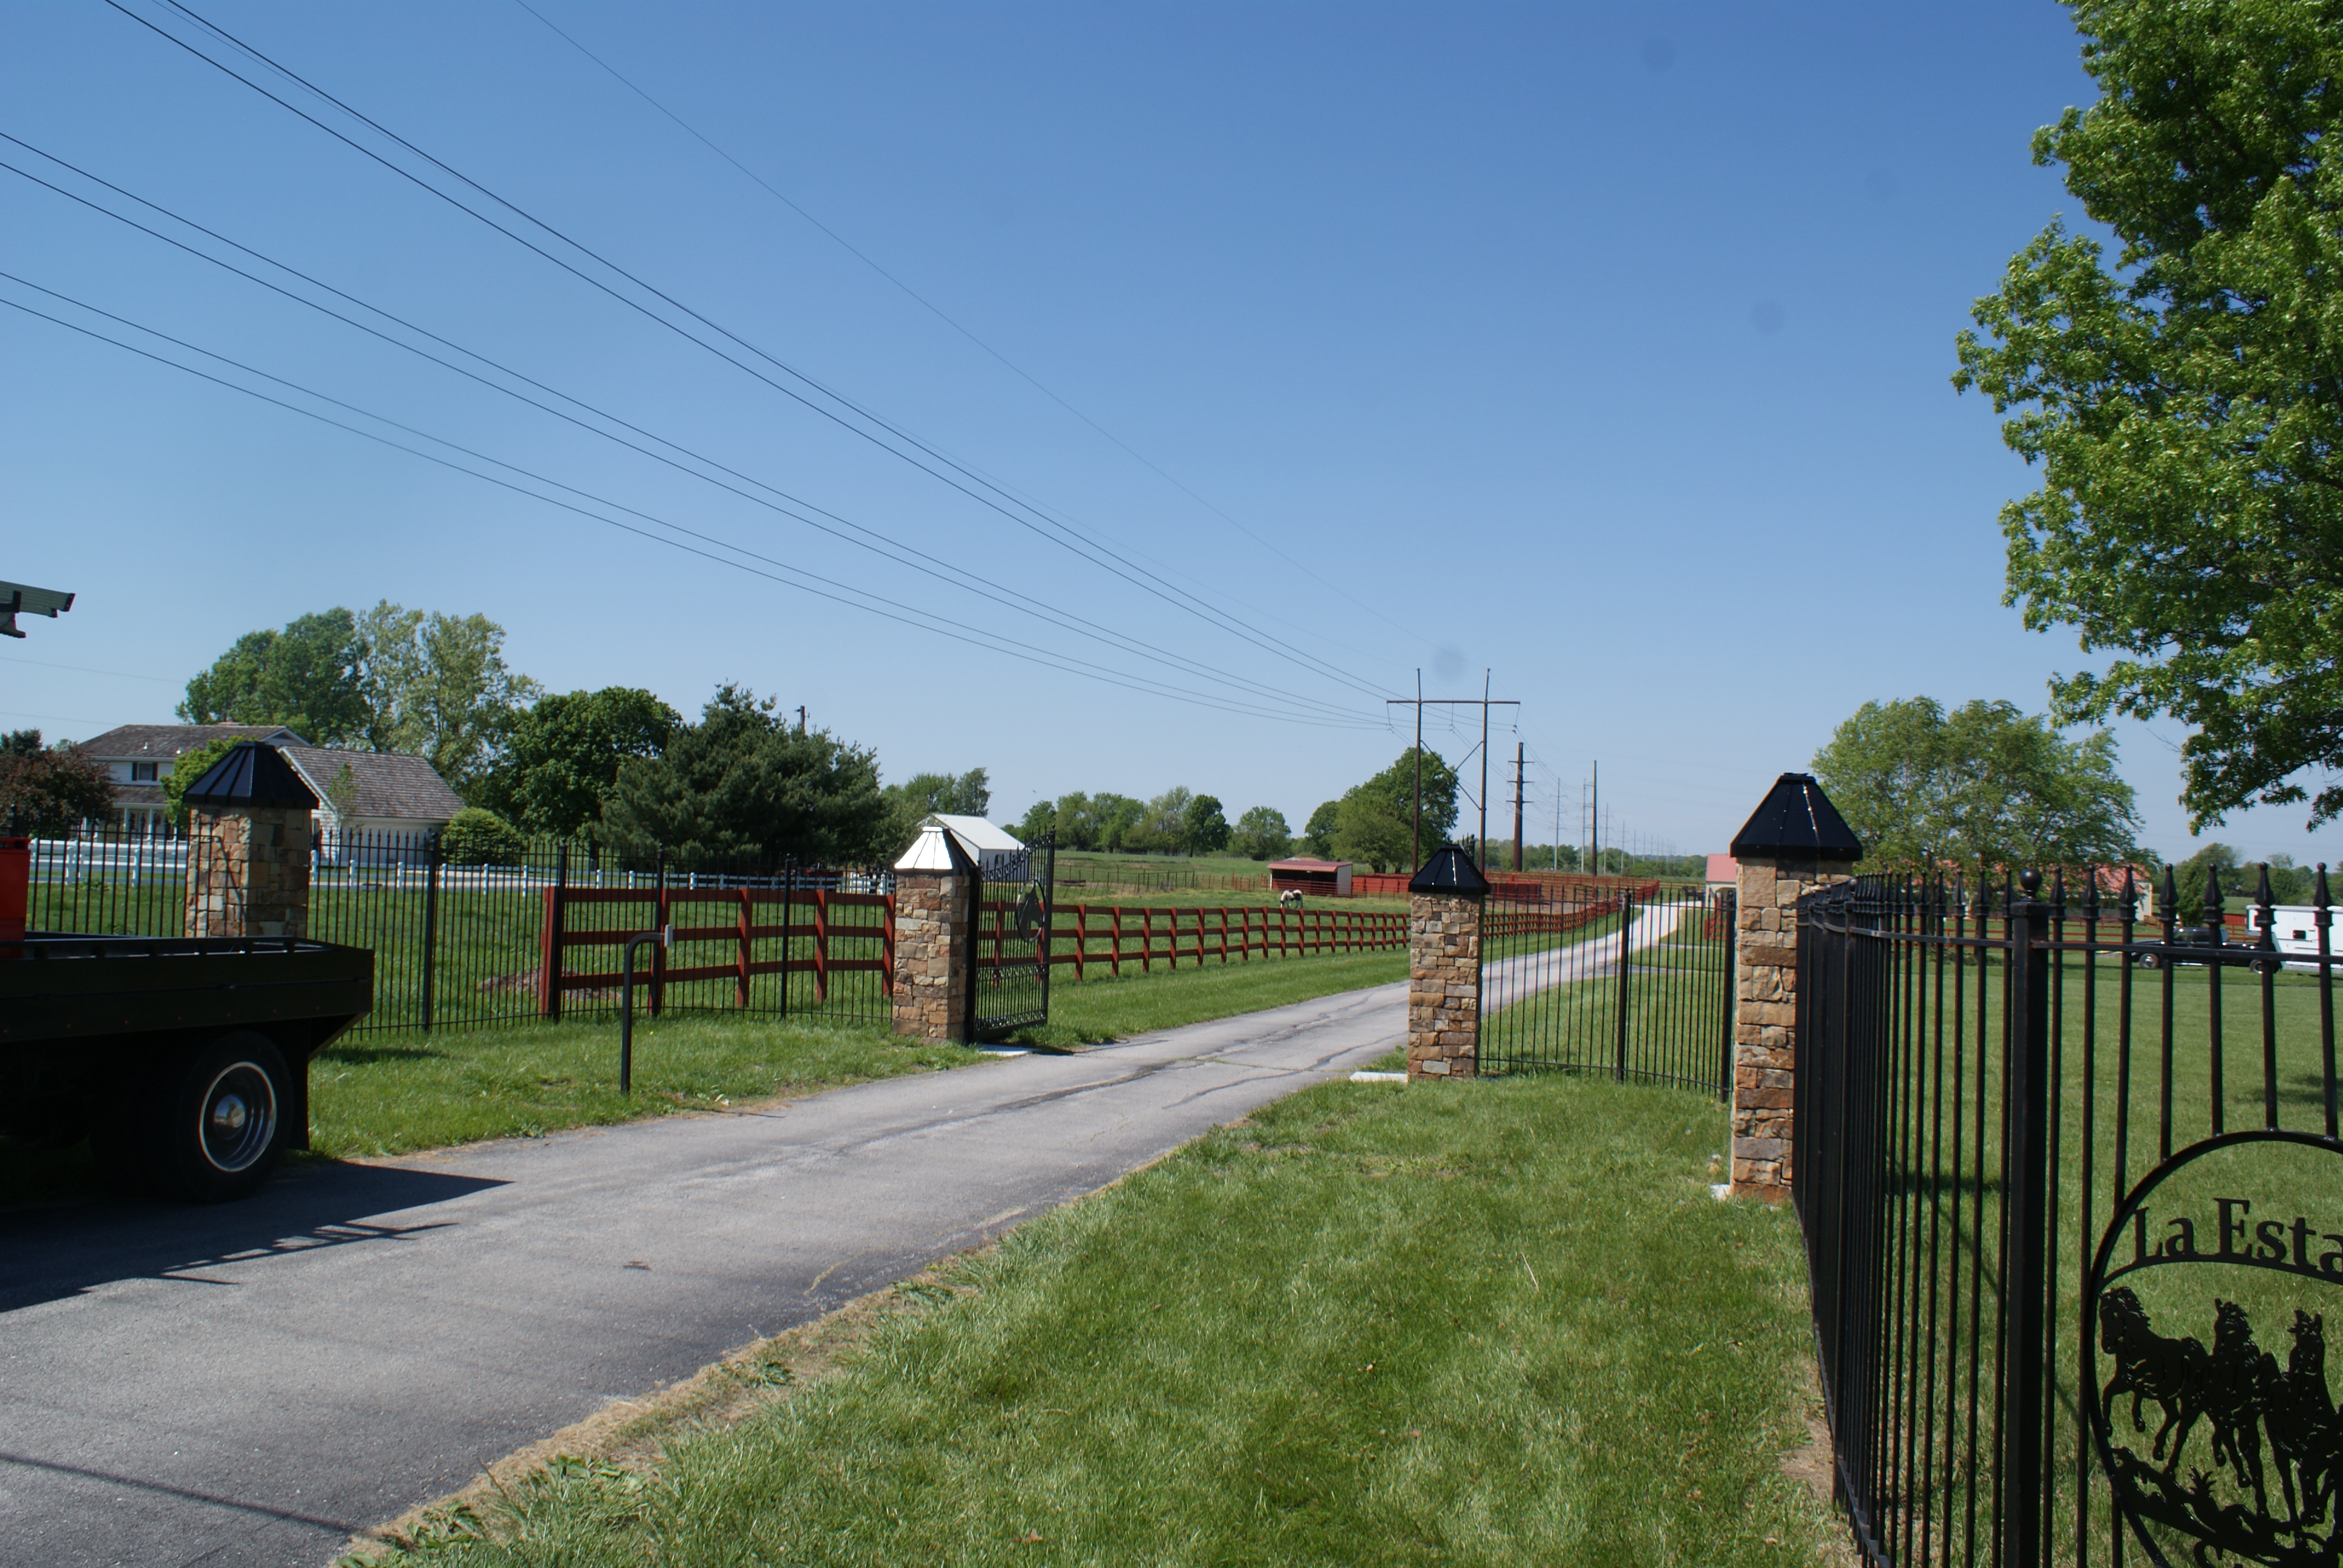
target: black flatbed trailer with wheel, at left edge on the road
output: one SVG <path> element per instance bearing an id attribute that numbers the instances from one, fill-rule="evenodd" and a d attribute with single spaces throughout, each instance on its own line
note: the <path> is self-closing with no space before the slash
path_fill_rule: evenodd
<path id="1" fill-rule="evenodd" d="M 150 1191 L 244 1198 L 309 1146 L 309 1057 L 366 1017 L 375 954 L 300 938 L 0 933 L 0 1132 L 89 1134 Z"/>

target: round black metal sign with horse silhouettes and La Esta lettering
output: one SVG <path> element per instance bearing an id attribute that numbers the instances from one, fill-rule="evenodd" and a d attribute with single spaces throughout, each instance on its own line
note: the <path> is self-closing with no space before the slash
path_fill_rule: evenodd
<path id="1" fill-rule="evenodd" d="M 2301 1132 L 2207 1139 L 2158 1165 L 2102 1235 L 2090 1423 L 2153 1563 L 2343 1561 L 2343 1413 L 2327 1378 L 2338 1153 Z"/>

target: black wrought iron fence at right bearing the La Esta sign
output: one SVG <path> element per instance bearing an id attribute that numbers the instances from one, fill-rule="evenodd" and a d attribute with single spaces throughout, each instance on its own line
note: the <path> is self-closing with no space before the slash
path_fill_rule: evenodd
<path id="1" fill-rule="evenodd" d="M 2298 921 L 2263 874 L 2249 942 L 2219 884 L 2193 930 L 2132 893 L 1799 902 L 1792 1193 L 1874 1563 L 2343 1554 L 2327 874 Z"/>

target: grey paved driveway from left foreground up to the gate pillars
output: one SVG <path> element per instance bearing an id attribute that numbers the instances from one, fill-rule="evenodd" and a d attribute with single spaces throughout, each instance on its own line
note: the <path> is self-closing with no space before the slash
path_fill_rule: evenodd
<path id="1" fill-rule="evenodd" d="M 0 1216 L 0 1563 L 314 1568 L 1403 1029 L 1387 984 L 766 1113 L 312 1167 L 218 1209 Z"/>

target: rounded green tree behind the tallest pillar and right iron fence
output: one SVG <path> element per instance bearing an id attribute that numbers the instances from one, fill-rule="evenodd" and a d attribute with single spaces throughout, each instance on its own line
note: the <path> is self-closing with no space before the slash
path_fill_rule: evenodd
<path id="1" fill-rule="evenodd" d="M 2139 825 L 2111 731 L 2067 741 L 2013 703 L 1863 703 L 1813 773 L 1879 870 L 2123 860 Z"/>

